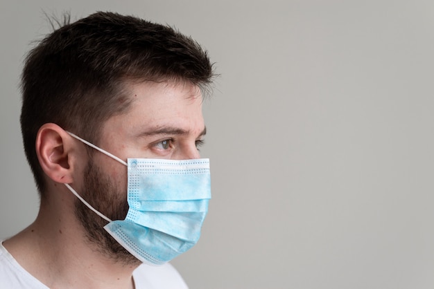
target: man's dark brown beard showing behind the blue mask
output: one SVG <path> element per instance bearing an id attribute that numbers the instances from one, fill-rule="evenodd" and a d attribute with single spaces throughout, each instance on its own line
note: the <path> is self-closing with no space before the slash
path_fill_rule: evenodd
<path id="1" fill-rule="evenodd" d="M 125 190 L 117 188 L 111 179 L 94 165 L 92 157 L 87 162 L 84 187 L 81 191 L 82 198 L 110 220 L 125 219 L 129 208 Z M 78 199 L 76 200 L 75 212 L 78 221 L 85 229 L 87 241 L 94 245 L 98 252 L 124 265 L 139 265 L 141 263 L 105 231 L 104 226 L 107 225 L 107 221 Z"/>

